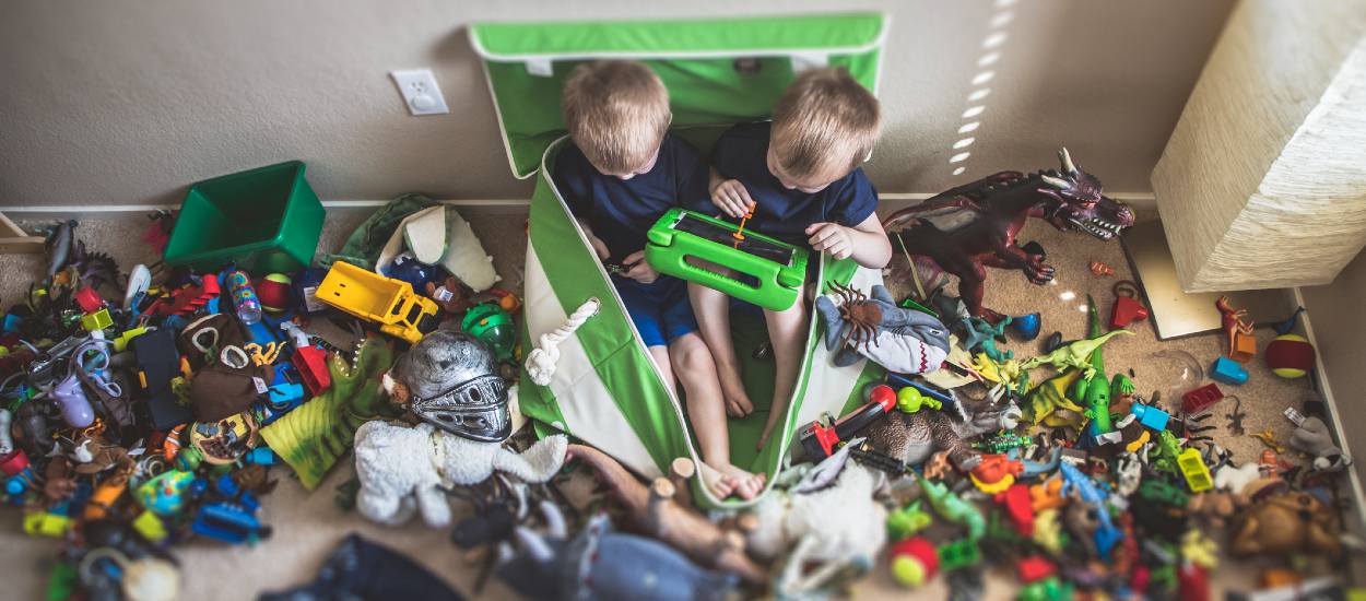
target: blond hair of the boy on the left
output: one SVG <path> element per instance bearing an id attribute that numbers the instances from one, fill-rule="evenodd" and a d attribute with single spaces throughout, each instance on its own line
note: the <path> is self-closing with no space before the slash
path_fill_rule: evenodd
<path id="1" fill-rule="evenodd" d="M 672 119 L 664 82 L 628 60 L 575 67 L 560 104 L 574 143 L 593 167 L 609 173 L 628 173 L 647 163 Z"/>

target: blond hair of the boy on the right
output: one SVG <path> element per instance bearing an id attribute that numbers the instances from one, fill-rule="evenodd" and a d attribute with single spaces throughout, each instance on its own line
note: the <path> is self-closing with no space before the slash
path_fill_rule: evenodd
<path id="1" fill-rule="evenodd" d="M 803 72 L 773 105 L 769 145 L 788 175 L 807 178 L 854 171 L 877 142 L 877 98 L 848 70 Z"/>

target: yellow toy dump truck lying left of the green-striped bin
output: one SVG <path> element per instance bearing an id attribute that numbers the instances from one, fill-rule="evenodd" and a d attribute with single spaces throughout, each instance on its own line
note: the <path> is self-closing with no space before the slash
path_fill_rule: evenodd
<path id="1" fill-rule="evenodd" d="M 337 261 L 318 285 L 317 299 L 346 313 L 380 324 L 380 332 L 408 343 L 436 329 L 437 305 L 413 291 L 407 281 L 384 277 Z"/>

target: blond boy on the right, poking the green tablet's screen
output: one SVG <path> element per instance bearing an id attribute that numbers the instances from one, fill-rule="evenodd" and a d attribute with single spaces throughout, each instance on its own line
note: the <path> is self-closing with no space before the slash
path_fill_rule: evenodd
<path id="1" fill-rule="evenodd" d="M 859 165 L 877 142 L 877 98 L 843 68 L 803 72 L 773 107 L 773 120 L 739 124 L 716 142 L 708 199 L 686 206 L 739 219 L 753 208 L 749 227 L 835 258 L 881 269 L 892 244 L 877 214 L 877 191 Z M 727 407 L 753 411 L 731 340 L 729 300 L 712 288 L 688 284 L 693 310 L 716 358 Z M 777 374 L 762 448 L 796 387 L 806 347 L 807 309 L 764 310 Z"/>

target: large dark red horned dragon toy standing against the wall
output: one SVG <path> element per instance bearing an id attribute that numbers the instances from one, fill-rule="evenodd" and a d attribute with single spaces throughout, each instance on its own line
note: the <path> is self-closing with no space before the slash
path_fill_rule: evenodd
<path id="1" fill-rule="evenodd" d="M 1134 224 L 1128 205 L 1101 194 L 1101 180 L 1079 169 L 1065 148 L 1057 157 L 1061 171 L 1003 171 L 892 213 L 882 221 L 892 247 L 958 276 L 968 313 L 994 324 L 1001 316 L 982 306 L 986 268 L 1022 269 L 1035 284 L 1053 279 L 1042 253 L 1015 243 L 1027 219 L 1102 240 Z"/>

